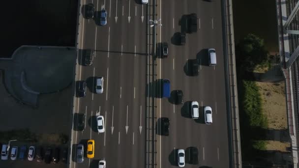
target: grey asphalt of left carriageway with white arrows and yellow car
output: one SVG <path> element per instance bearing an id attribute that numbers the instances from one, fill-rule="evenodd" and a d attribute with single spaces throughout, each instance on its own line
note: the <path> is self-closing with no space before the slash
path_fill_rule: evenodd
<path id="1" fill-rule="evenodd" d="M 109 168 L 142 168 L 145 165 L 146 5 L 134 0 L 83 0 L 95 11 L 107 10 L 107 25 L 84 19 L 79 49 L 94 49 L 91 66 L 78 59 L 76 81 L 86 80 L 87 96 L 76 98 L 75 112 L 86 113 L 84 131 L 73 132 L 72 168 L 97 168 L 105 159 Z M 82 10 L 82 9 L 80 9 Z M 117 19 L 116 19 L 117 17 Z M 144 17 L 145 18 L 145 17 Z M 93 93 L 93 77 L 104 78 L 104 92 Z M 105 133 L 97 133 L 96 115 L 105 119 Z M 74 128 L 76 125 L 74 125 Z M 95 140 L 94 159 L 74 162 L 76 144 Z M 86 148 L 85 148 L 86 149 Z M 86 152 L 86 150 L 85 150 Z"/>

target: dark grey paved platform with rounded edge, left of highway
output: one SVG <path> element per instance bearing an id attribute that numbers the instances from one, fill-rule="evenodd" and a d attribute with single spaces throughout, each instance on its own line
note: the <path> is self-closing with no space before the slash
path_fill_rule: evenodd
<path id="1" fill-rule="evenodd" d="M 0 58 L 7 91 L 19 101 L 38 106 L 38 95 L 71 84 L 76 61 L 74 47 L 21 46 L 11 58 Z"/>

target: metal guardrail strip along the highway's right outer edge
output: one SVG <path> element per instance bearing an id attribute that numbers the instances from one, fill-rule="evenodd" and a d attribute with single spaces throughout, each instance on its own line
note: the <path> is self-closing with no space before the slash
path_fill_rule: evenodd
<path id="1" fill-rule="evenodd" d="M 235 42 L 234 42 L 234 24 L 233 24 L 233 7 L 232 0 L 222 0 L 222 13 L 224 13 L 223 30 L 224 34 L 224 54 L 226 55 L 227 70 L 227 95 L 228 97 L 228 127 L 229 127 L 229 148 L 230 167 L 241 168 L 241 145 L 240 145 L 240 129 L 239 129 L 239 106 L 238 106 L 238 89 L 237 89 L 237 73 L 235 59 Z"/>

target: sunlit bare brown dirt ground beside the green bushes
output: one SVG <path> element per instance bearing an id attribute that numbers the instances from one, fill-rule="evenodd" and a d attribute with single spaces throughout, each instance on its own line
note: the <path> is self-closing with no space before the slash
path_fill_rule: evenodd
<path id="1" fill-rule="evenodd" d="M 262 108 L 268 119 L 268 128 L 281 130 L 287 129 L 287 112 L 285 99 L 285 84 L 280 83 L 264 83 L 256 82 L 260 87 L 262 95 Z M 286 147 L 290 147 L 290 143 L 268 140 L 267 150 L 286 151 Z"/>

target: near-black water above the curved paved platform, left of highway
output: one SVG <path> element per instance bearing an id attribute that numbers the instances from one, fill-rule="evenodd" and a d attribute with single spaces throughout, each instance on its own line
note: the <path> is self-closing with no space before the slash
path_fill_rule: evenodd
<path id="1" fill-rule="evenodd" d="M 1 53 L 22 45 L 75 46 L 78 0 L 1 1 Z"/>

